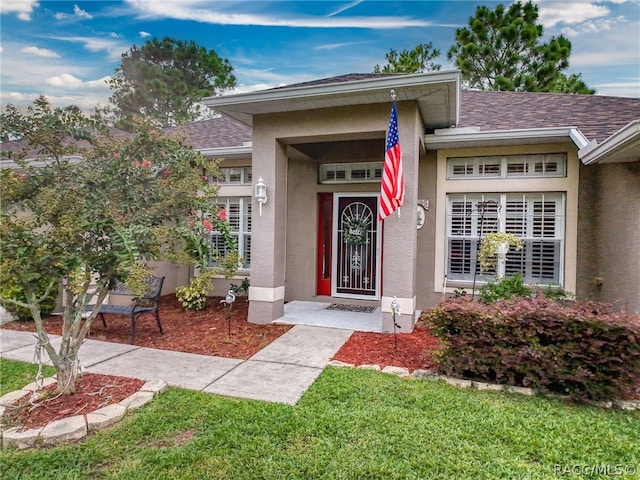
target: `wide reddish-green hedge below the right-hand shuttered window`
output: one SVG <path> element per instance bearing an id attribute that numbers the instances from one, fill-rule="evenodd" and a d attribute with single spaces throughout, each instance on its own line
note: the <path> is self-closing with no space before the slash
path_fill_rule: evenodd
<path id="1" fill-rule="evenodd" d="M 590 400 L 623 398 L 640 379 L 640 317 L 606 305 L 452 298 L 426 319 L 447 375 Z"/>

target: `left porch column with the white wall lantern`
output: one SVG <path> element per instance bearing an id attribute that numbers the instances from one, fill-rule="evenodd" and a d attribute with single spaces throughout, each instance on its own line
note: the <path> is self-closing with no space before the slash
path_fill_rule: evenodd
<path id="1" fill-rule="evenodd" d="M 251 203 L 251 323 L 269 323 L 284 315 L 286 147 L 260 130 L 254 123 L 252 174 L 254 186 L 260 177 L 267 186 L 267 203 L 262 216 L 255 198 Z"/>

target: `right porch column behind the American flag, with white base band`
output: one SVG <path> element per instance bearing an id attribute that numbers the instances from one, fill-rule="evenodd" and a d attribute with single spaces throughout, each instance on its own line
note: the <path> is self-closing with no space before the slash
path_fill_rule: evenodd
<path id="1" fill-rule="evenodd" d="M 420 113 L 414 104 L 398 104 L 398 130 L 404 173 L 404 205 L 383 222 L 384 244 L 382 260 L 382 330 L 393 332 L 391 301 L 395 296 L 400 305 L 396 323 L 399 333 L 409 333 L 416 323 L 416 255 L 418 162 L 420 138 L 424 136 Z"/>

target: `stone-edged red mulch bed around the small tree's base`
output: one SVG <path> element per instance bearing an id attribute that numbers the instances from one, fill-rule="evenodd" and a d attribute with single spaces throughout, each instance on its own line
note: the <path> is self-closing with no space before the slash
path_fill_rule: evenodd
<path id="1" fill-rule="evenodd" d="M 85 415 L 107 405 L 121 402 L 140 390 L 144 381 L 135 378 L 86 373 L 76 380 L 74 395 L 56 396 L 56 385 L 42 389 L 33 404 L 26 395 L 8 407 L 3 423 L 22 430 L 44 427 L 47 423 L 75 415 Z"/>

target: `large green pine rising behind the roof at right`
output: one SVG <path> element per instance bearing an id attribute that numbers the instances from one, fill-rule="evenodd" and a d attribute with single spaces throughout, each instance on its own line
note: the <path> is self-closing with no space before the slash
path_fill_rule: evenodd
<path id="1" fill-rule="evenodd" d="M 459 28 L 447 52 L 470 88 L 528 92 L 595 93 L 580 75 L 566 77 L 571 42 L 564 36 L 541 41 L 538 7 L 514 2 L 476 8 L 469 26 Z"/>

